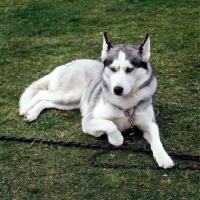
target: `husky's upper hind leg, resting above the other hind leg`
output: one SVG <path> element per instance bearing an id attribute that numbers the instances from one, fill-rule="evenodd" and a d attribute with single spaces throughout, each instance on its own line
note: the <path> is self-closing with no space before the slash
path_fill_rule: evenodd
<path id="1" fill-rule="evenodd" d="M 82 92 L 76 91 L 75 93 L 73 90 L 68 93 L 50 91 L 50 90 L 40 90 L 22 109 L 20 109 L 20 115 L 26 115 L 36 104 L 38 104 L 40 101 L 43 101 L 43 100 L 50 101 L 52 103 L 59 104 L 59 105 L 60 104 L 62 105 L 77 104 L 80 102 L 81 95 L 82 95 Z M 42 107 L 40 106 L 40 108 Z M 48 108 L 48 107 L 43 107 L 43 109 L 45 108 Z"/>

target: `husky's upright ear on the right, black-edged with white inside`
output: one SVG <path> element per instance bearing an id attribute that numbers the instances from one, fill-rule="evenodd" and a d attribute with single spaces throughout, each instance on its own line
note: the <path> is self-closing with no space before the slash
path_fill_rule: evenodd
<path id="1" fill-rule="evenodd" d="M 147 33 L 144 41 L 139 45 L 139 50 L 141 54 L 141 58 L 143 62 L 148 62 L 150 59 L 150 37 L 149 34 Z"/>

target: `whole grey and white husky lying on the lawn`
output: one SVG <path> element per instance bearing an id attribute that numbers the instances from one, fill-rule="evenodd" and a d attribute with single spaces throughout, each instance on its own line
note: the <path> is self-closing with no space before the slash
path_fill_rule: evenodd
<path id="1" fill-rule="evenodd" d="M 150 37 L 140 45 L 113 44 L 103 34 L 102 62 L 81 59 L 62 65 L 33 82 L 20 97 L 19 113 L 31 122 L 43 109 L 80 109 L 82 130 L 95 137 L 107 134 L 120 146 L 121 131 L 136 125 L 151 145 L 162 168 L 174 162 L 160 141 L 152 106 L 157 80 L 149 63 Z"/>

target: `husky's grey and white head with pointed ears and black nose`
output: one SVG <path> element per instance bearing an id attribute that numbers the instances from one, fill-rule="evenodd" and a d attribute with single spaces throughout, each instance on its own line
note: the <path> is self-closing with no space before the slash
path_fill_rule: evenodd
<path id="1" fill-rule="evenodd" d="M 115 95 L 128 95 L 148 76 L 149 34 L 140 45 L 114 45 L 104 33 L 101 59 L 104 63 L 103 76 L 106 87 Z"/>

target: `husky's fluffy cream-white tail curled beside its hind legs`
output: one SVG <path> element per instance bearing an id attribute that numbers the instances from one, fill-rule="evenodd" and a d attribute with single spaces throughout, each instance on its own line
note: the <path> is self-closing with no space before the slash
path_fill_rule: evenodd
<path id="1" fill-rule="evenodd" d="M 20 110 L 40 91 L 47 90 L 49 83 L 49 75 L 46 75 L 39 80 L 33 82 L 29 85 L 24 93 L 21 95 L 19 100 L 19 108 Z"/>

